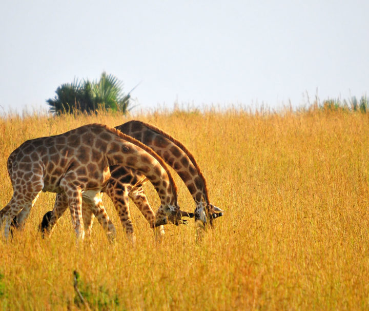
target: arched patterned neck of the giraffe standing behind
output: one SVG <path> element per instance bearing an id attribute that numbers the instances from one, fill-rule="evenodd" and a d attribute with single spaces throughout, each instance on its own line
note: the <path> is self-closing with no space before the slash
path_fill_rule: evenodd
<path id="1" fill-rule="evenodd" d="M 206 180 L 191 152 L 162 130 L 141 122 L 129 121 L 115 127 L 152 148 L 182 179 L 196 206 L 209 204 Z"/>

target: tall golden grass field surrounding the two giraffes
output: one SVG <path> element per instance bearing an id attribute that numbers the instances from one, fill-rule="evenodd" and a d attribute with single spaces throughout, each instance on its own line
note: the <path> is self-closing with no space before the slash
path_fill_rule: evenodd
<path id="1" fill-rule="evenodd" d="M 25 140 L 132 117 L 9 115 L 0 119 L 0 205 L 12 196 L 6 162 Z M 75 310 L 78 288 L 91 309 L 369 309 L 369 114 L 306 109 L 135 115 L 172 134 L 194 154 L 210 199 L 225 210 L 196 239 L 194 221 L 166 226 L 161 244 L 131 202 L 136 247 L 105 197 L 117 239 L 96 222 L 76 244 L 70 215 L 43 240 L 37 226 L 52 209 L 42 193 L 24 230 L 0 239 L 0 307 Z M 182 209 L 190 194 L 173 173 Z M 153 209 L 156 192 L 145 186 Z"/>

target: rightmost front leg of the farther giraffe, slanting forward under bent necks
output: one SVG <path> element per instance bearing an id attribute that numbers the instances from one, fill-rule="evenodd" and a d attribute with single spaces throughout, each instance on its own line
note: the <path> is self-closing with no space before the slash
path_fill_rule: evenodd
<path id="1" fill-rule="evenodd" d="M 150 227 L 154 231 L 155 240 L 160 242 L 163 236 L 165 235 L 164 226 L 163 225 L 160 225 L 158 227 L 154 226 L 155 214 L 147 200 L 144 189 L 142 187 L 134 188 L 129 192 L 128 195 L 150 224 Z"/>

